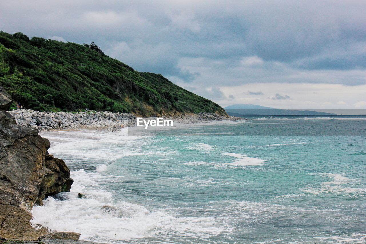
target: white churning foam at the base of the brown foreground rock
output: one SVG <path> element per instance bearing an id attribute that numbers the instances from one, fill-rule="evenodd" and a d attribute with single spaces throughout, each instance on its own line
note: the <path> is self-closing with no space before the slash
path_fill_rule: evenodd
<path id="1" fill-rule="evenodd" d="M 210 217 L 177 217 L 172 211 L 148 209 L 125 201 L 113 201 L 113 194 L 101 187 L 107 180 L 100 173 L 71 171 L 71 192 L 60 193 L 68 200 L 48 197 L 43 206 L 35 206 L 33 225 L 41 224 L 52 231 L 82 233 L 81 240 L 107 242 L 168 234 L 189 236 L 228 232 L 228 227 Z M 111 176 L 113 177 L 113 176 Z M 171 179 L 175 180 L 175 179 Z M 78 199 L 78 192 L 85 198 Z M 119 215 L 101 211 L 108 205 L 117 207 Z"/>

